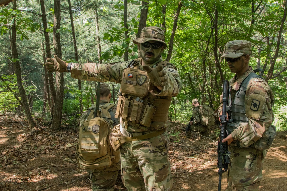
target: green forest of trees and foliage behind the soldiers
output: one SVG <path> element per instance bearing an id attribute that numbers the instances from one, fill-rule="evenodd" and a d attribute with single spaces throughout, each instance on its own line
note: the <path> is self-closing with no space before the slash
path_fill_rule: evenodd
<path id="1" fill-rule="evenodd" d="M 52 119 L 51 127 L 77 123 L 94 103 L 96 82 L 44 68 L 54 54 L 66 62 L 110 63 L 138 57 L 132 40 L 146 26 L 162 27 L 162 57 L 176 66 L 183 90 L 173 99 L 170 120 L 186 123 L 191 100 L 219 105 L 224 59 L 231 40 L 252 42 L 250 65 L 262 68 L 275 96 L 274 125 L 287 130 L 287 27 L 284 1 L 14 0 L 0 3 L 0 113 Z M 113 102 L 119 84 L 109 83 Z M 63 116 L 68 116 L 62 120 Z"/>

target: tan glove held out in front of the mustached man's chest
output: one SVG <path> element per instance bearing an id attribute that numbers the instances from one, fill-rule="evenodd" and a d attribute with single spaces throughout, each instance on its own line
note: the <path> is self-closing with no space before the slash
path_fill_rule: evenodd
<path id="1" fill-rule="evenodd" d="M 168 77 L 165 75 L 166 71 L 162 70 L 163 67 L 161 64 L 158 64 L 155 68 L 144 65 L 143 68 L 148 73 L 148 77 L 150 78 L 152 84 L 157 87 L 162 87 L 167 84 Z"/>

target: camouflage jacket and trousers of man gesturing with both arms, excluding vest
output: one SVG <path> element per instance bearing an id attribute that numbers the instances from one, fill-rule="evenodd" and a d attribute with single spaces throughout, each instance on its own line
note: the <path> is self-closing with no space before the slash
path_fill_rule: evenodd
<path id="1" fill-rule="evenodd" d="M 150 67 L 162 61 L 160 58 Z M 141 63 L 141 59 L 138 60 Z M 71 76 L 81 80 L 117 81 L 121 80 L 122 71 L 129 62 L 110 64 L 72 64 Z M 142 69 L 141 64 L 138 65 Z M 142 69 L 143 70 L 143 69 Z M 157 97 L 176 96 L 181 89 L 181 81 L 177 71 L 172 66 L 166 66 L 169 83 L 162 91 L 153 90 Z M 152 122 L 150 127 L 133 124 L 128 121 L 128 126 L 121 120 L 121 126 L 129 132 L 148 132 L 154 129 L 166 129 L 169 125 L 165 122 Z M 171 190 L 172 175 L 168 161 L 168 135 L 163 133 L 153 138 L 140 141 L 126 142 L 121 145 L 122 180 L 128 190 Z M 152 153 L 152 154 L 151 154 Z"/>

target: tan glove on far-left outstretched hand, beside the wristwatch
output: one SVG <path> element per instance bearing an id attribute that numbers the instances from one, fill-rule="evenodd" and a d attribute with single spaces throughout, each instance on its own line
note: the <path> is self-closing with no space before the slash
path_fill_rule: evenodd
<path id="1" fill-rule="evenodd" d="M 54 55 L 55 58 L 47 58 L 45 63 L 46 68 L 49 72 L 68 72 L 67 65 L 68 63 L 64 60 L 58 58 L 57 55 Z"/>

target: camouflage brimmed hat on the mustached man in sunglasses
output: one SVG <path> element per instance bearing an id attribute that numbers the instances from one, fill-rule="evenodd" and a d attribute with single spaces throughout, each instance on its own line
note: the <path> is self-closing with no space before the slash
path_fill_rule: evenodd
<path id="1" fill-rule="evenodd" d="M 162 42 L 164 48 L 167 46 L 164 42 L 164 31 L 160 27 L 144 27 L 139 38 L 134 39 L 133 43 L 140 44 L 149 40 Z"/>

